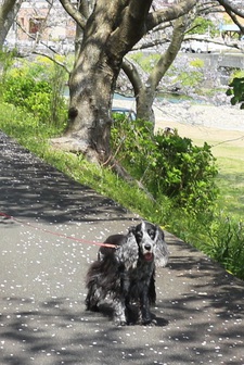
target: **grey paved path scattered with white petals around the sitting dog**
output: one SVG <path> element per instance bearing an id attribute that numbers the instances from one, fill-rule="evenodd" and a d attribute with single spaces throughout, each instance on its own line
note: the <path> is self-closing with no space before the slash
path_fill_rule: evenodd
<path id="1" fill-rule="evenodd" d="M 137 219 L 0 133 L 0 364 L 244 364 L 244 284 L 167 234 L 154 327 L 85 311 L 85 274 Z M 86 241 L 65 238 L 66 235 Z"/>

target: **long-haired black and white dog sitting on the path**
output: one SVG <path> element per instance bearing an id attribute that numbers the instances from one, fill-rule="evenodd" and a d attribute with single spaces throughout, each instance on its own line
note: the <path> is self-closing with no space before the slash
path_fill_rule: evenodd
<path id="1" fill-rule="evenodd" d="M 127 235 L 110 236 L 104 243 L 116 248 L 101 247 L 87 273 L 87 310 L 98 311 L 110 297 L 115 323 L 126 325 L 130 304 L 138 302 L 140 323 L 150 324 L 150 304 L 156 300 L 155 267 L 168 262 L 164 238 L 163 230 L 149 222 L 129 228 Z"/>

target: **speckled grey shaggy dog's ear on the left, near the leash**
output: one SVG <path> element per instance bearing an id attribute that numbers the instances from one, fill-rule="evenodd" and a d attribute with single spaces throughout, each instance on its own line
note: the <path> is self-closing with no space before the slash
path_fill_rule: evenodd
<path id="1" fill-rule="evenodd" d="M 126 269 L 137 266 L 139 250 L 136 237 L 131 230 L 125 236 L 123 244 L 116 250 L 116 256 L 118 262 L 125 265 Z"/>

